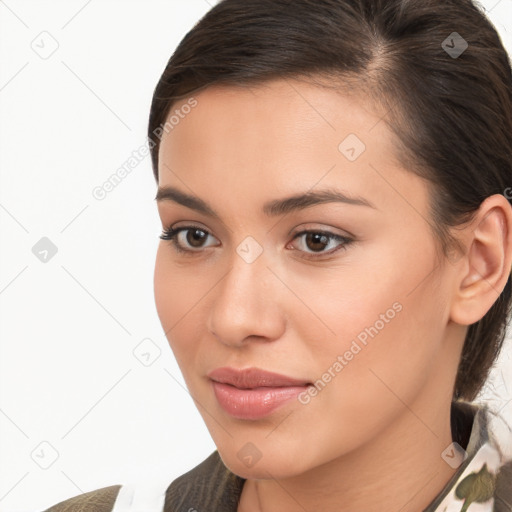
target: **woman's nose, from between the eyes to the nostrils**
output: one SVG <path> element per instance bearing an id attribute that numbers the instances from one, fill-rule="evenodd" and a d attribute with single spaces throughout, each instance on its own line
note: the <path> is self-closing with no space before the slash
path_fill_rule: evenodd
<path id="1" fill-rule="evenodd" d="M 264 254 L 248 263 L 235 253 L 230 270 L 212 290 L 207 326 L 225 345 L 241 347 L 283 334 L 286 287 L 273 273 L 278 271 L 268 268 Z"/>

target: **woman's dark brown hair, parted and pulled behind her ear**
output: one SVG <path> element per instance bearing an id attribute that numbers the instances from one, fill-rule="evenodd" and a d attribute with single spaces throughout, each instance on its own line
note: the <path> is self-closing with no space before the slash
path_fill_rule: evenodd
<path id="1" fill-rule="evenodd" d="M 448 259 L 464 251 L 449 228 L 471 220 L 486 197 L 512 190 L 511 64 L 471 0 L 221 1 L 185 35 L 155 88 L 148 137 L 157 183 L 162 126 L 175 102 L 213 84 L 287 77 L 326 77 L 387 113 L 399 161 L 431 190 L 431 228 Z M 509 276 L 468 328 L 453 399 L 477 396 L 510 312 Z"/>

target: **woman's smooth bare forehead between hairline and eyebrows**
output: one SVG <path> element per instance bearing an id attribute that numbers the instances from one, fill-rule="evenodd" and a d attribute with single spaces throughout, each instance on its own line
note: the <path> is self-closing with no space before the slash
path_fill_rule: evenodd
<path id="1" fill-rule="evenodd" d="M 418 178 L 396 160 L 394 134 L 363 95 L 281 79 L 211 86 L 193 99 L 193 108 L 190 98 L 171 108 L 179 120 L 162 137 L 161 186 L 260 203 L 276 191 L 337 187 L 377 207 L 418 194 Z"/>

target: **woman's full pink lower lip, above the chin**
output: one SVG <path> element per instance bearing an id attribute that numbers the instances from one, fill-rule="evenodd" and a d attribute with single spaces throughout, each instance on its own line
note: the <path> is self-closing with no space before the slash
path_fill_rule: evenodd
<path id="1" fill-rule="evenodd" d="M 212 381 L 213 391 L 220 406 L 231 416 L 243 420 L 257 420 L 305 391 L 308 386 L 239 389 L 229 384 Z"/>

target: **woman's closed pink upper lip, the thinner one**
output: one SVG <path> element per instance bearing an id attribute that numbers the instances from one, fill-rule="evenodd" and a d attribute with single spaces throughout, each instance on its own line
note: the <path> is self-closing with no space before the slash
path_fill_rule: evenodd
<path id="1" fill-rule="evenodd" d="M 229 366 L 215 368 L 208 377 L 216 382 L 231 384 L 237 388 L 287 387 L 311 384 L 302 379 L 294 379 L 279 373 L 268 372 L 260 368 L 236 369 Z"/>

